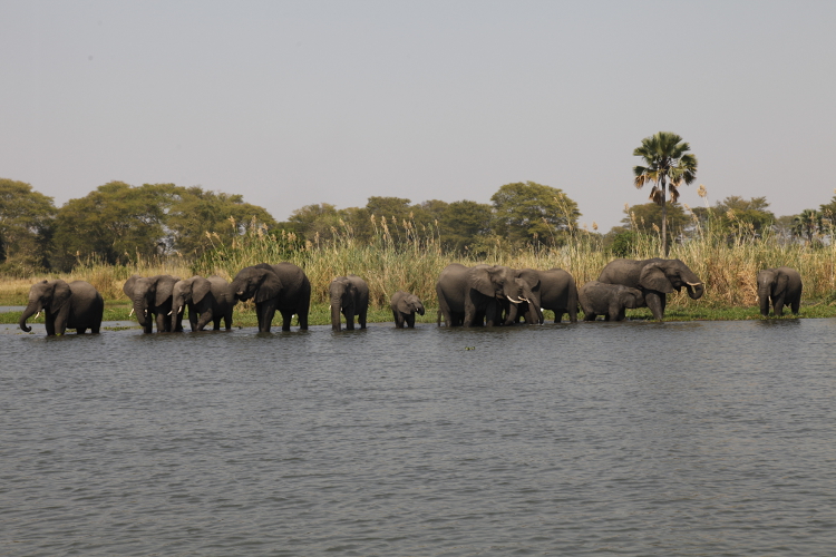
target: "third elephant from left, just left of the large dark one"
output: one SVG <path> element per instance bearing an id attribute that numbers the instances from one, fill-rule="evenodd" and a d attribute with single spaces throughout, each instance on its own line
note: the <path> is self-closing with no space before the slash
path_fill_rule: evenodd
<path id="1" fill-rule="evenodd" d="M 232 309 L 235 306 L 235 294 L 223 277 L 212 275 L 208 278 L 194 275 L 177 281 L 172 294 L 172 312 L 175 315 L 175 331 L 182 331 L 183 310 L 188 307 L 188 322 L 192 331 L 203 331 L 210 321 L 214 330 L 221 330 L 224 320 L 226 330 L 232 329 Z"/>

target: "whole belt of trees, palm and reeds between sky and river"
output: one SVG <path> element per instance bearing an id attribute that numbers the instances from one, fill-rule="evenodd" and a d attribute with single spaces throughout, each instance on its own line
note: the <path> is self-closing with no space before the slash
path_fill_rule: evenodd
<path id="1" fill-rule="evenodd" d="M 85 280 L 107 302 L 106 320 L 128 319 L 121 285 L 134 273 L 220 274 L 289 261 L 312 285 L 311 323 L 328 323 L 328 284 L 356 273 L 371 289 L 372 321 L 389 321 L 389 299 L 414 292 L 435 322 L 435 283 L 451 262 L 516 268 L 565 268 L 579 286 L 614 257 L 669 254 L 706 283 L 706 295 L 669 300 L 667 319 L 756 319 L 755 277 L 787 265 L 804 277 L 803 316 L 832 316 L 836 292 L 836 195 L 819 208 L 776 217 L 766 197 L 727 196 L 713 206 L 679 204 L 678 187 L 693 182 L 697 159 L 675 134 L 644 138 L 634 150 L 634 185 L 652 183 L 652 203 L 625 206 L 622 226 L 606 234 L 579 226 L 577 204 L 562 189 L 534 182 L 499 187 L 490 204 L 401 197 L 368 198 L 363 207 L 328 203 L 295 209 L 278 223 L 240 195 L 174 184 L 111 182 L 56 208 L 29 184 L 0 179 L 0 304 L 26 303 L 36 280 Z M 649 312 L 629 312 L 634 319 Z M 236 324 L 254 324 L 252 307 Z M 0 322 L 16 323 L 14 314 Z"/>

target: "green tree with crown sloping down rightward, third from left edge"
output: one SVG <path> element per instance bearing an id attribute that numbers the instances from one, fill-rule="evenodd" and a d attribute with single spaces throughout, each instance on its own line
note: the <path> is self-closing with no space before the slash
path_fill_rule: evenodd
<path id="1" fill-rule="evenodd" d="M 265 208 L 244 203 L 243 196 L 204 192 L 200 186 L 175 188 L 164 223 L 168 246 L 189 257 L 212 247 L 210 235 L 229 244 L 246 226 L 276 225 Z"/>

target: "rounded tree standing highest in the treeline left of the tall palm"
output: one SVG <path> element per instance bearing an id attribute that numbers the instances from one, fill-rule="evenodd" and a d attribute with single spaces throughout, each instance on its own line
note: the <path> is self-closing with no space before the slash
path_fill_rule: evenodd
<path id="1" fill-rule="evenodd" d="M 495 228 L 514 243 L 555 243 L 581 213 L 562 189 L 534 182 L 505 184 L 493 196 Z"/>

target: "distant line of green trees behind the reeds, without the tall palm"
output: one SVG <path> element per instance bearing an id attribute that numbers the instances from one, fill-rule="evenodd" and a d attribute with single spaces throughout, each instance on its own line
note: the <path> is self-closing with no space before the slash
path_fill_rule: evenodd
<path id="1" fill-rule="evenodd" d="M 700 187 L 704 197 L 704 188 Z M 338 209 L 328 203 L 295 209 L 276 222 L 241 195 L 206 192 L 198 186 L 111 182 L 57 208 L 51 197 L 29 184 L 0 178 L 0 272 L 28 276 L 65 272 L 78 263 L 124 265 L 159 256 L 195 261 L 232 244 L 247 228 L 281 237 L 285 248 L 333 244 L 350 237 L 371 243 L 416 245 L 431 238 L 446 252 L 478 257 L 497 251 L 560 247 L 583 237 L 593 248 L 628 255 L 641 235 L 658 234 L 661 208 L 648 203 L 625 206 L 623 226 L 606 234 L 597 225 L 579 225 L 577 204 L 562 189 L 533 182 L 506 184 L 490 204 L 430 199 L 412 204 L 400 197 L 369 197 L 363 207 Z M 832 236 L 836 196 L 819 209 L 775 217 L 766 197 L 730 196 L 713 207 L 668 205 L 671 237 L 686 242 L 710 221 L 732 238 L 777 234 L 787 242 L 824 244 Z M 284 234 L 282 234 L 284 231 Z"/>

